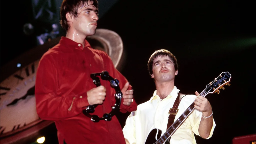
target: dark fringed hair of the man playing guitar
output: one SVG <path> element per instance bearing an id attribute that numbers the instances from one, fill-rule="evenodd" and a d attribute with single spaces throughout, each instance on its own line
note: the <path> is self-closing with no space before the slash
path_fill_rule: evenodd
<path id="1" fill-rule="evenodd" d="M 175 68 L 175 71 L 178 69 L 178 63 L 177 63 L 177 59 L 176 57 L 171 53 L 169 52 L 168 50 L 166 49 L 159 49 L 159 50 L 156 50 L 151 56 L 150 58 L 148 59 L 148 62 L 147 62 L 147 69 L 148 69 L 148 72 L 150 75 L 153 74 L 153 71 L 152 71 L 152 67 L 153 67 L 153 61 L 154 59 L 158 58 L 158 57 L 162 57 L 162 56 L 168 56 L 174 63 L 174 68 Z"/>

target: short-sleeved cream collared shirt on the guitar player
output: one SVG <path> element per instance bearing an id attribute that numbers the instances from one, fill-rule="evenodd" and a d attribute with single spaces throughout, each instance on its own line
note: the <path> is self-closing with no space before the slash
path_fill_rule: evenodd
<path id="1" fill-rule="evenodd" d="M 137 106 L 136 111 L 132 111 L 126 119 L 123 128 L 124 137 L 130 144 L 144 144 L 148 134 L 154 128 L 162 130 L 162 135 L 166 131 L 169 109 L 173 107 L 174 101 L 178 96 L 179 89 L 174 86 L 172 92 L 162 101 L 156 95 L 156 90 L 150 100 Z M 180 115 L 195 101 L 196 95 L 186 95 L 180 101 L 176 121 Z M 196 144 L 195 136 L 199 135 L 198 128 L 201 120 L 201 112 L 196 109 L 188 116 L 183 124 L 171 136 L 171 144 Z M 210 117 L 213 119 L 213 117 Z M 216 124 L 213 119 L 209 139 L 212 136 Z M 200 135 L 199 135 L 200 136 Z"/>

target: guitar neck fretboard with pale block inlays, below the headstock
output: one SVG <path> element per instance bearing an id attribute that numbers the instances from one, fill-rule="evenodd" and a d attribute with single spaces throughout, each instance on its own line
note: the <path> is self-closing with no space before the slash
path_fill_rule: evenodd
<path id="1" fill-rule="evenodd" d="M 202 91 L 200 96 L 205 97 L 206 92 Z M 195 101 L 194 101 L 195 102 Z M 188 118 L 188 116 L 194 111 L 194 102 L 183 112 L 182 115 L 166 130 L 166 132 L 157 140 L 156 143 L 164 143 L 168 140 L 170 136 L 183 124 L 183 122 Z"/>

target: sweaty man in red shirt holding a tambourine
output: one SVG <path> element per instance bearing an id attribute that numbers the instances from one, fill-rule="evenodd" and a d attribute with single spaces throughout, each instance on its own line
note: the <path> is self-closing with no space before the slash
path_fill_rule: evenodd
<path id="1" fill-rule="evenodd" d="M 104 51 L 91 48 L 85 40 L 97 27 L 96 0 L 64 0 L 61 25 L 66 37 L 49 49 L 40 59 L 36 75 L 35 96 L 41 119 L 55 121 L 59 143 L 125 144 L 121 125 L 113 116 L 110 121 L 93 122 L 83 114 L 89 105 L 97 105 L 91 115 L 102 117 L 116 103 L 115 90 L 108 80 L 96 87 L 91 73 L 108 71 L 119 80 L 123 94 L 120 111 L 136 110 L 133 91 L 126 78 L 115 69 Z"/>

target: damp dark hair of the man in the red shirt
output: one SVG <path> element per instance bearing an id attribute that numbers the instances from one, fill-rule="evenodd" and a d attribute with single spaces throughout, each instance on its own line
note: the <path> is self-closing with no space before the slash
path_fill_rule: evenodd
<path id="1" fill-rule="evenodd" d="M 74 17 L 78 16 L 77 10 L 81 5 L 88 5 L 88 2 L 92 1 L 92 5 L 98 8 L 97 0 L 63 0 L 60 8 L 60 24 L 66 31 L 70 27 L 66 18 L 66 14 L 70 13 Z"/>

